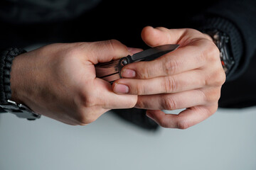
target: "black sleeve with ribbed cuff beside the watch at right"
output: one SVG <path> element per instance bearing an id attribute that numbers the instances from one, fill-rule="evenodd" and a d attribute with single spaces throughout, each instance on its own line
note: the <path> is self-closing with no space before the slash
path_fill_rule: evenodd
<path id="1" fill-rule="evenodd" d="M 230 36 L 235 67 L 227 81 L 245 72 L 256 49 L 256 1 L 223 0 L 193 18 L 196 28 L 217 28 Z"/>

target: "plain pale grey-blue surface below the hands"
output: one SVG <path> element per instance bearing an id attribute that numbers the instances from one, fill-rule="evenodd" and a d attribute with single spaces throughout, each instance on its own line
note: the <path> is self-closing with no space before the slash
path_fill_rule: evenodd
<path id="1" fill-rule="evenodd" d="M 0 114 L 0 169 L 256 169 L 256 108 L 148 132 L 112 113 L 86 126 Z M 176 111 L 177 113 L 177 111 Z"/>

